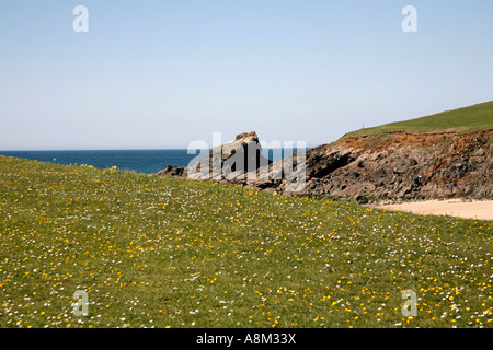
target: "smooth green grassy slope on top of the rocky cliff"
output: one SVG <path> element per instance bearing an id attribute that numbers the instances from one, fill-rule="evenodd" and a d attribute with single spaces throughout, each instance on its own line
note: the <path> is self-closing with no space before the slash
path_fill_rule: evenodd
<path id="1" fill-rule="evenodd" d="M 411 133 L 456 131 L 458 133 L 469 133 L 481 130 L 493 130 L 493 102 L 355 130 L 347 133 L 346 137 L 386 133 L 390 131 L 408 131 Z"/>

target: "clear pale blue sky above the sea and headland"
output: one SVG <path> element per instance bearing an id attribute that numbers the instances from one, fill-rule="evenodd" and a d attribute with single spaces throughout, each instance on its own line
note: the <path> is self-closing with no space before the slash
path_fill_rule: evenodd
<path id="1" fill-rule="evenodd" d="M 408 4 L 417 33 L 401 30 Z M 492 101 L 492 18 L 484 0 L 2 0 L 0 150 L 252 130 L 316 145 Z"/>

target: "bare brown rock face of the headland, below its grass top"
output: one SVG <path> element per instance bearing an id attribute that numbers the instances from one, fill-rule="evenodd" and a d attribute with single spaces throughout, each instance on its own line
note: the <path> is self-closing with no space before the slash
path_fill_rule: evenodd
<path id="1" fill-rule="evenodd" d="M 221 164 L 227 164 L 236 154 L 231 150 L 241 150 L 236 142 L 259 144 L 259 138 L 254 132 L 242 133 L 234 142 L 222 145 Z M 493 199 L 492 156 L 493 130 L 469 135 L 392 132 L 343 137 L 306 152 L 306 186 L 291 194 L 331 195 L 360 202 L 380 199 Z M 220 180 L 285 192 L 289 180 L 278 165 L 287 161 L 297 165 L 295 154 L 268 163 L 267 179 L 221 177 Z M 255 165 L 259 171 L 262 164 L 256 162 Z M 161 175 L 184 177 L 186 171 L 171 167 L 162 171 Z"/>

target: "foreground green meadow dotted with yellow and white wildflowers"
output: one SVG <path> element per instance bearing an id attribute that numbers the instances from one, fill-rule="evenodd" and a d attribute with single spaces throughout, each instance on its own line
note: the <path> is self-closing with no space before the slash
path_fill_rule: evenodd
<path id="1" fill-rule="evenodd" d="M 0 156 L 0 327 L 491 327 L 492 233 Z M 72 314 L 76 290 L 89 316 Z"/>

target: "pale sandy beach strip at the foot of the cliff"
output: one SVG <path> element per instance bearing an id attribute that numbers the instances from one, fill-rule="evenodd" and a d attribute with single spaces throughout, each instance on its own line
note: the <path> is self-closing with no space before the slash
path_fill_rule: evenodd
<path id="1" fill-rule="evenodd" d="M 450 215 L 466 219 L 493 220 L 493 200 L 426 200 L 404 202 L 399 205 L 383 205 L 378 206 L 377 208 L 403 210 L 417 214 Z"/>

